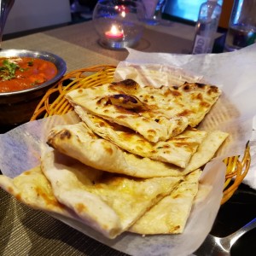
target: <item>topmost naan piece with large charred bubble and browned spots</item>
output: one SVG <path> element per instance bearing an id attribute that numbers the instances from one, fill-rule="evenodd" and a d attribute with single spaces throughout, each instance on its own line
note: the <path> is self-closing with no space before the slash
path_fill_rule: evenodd
<path id="1" fill-rule="evenodd" d="M 142 88 L 127 79 L 72 90 L 66 97 L 74 106 L 124 125 L 157 143 L 177 136 L 188 125 L 199 124 L 220 93 L 216 86 L 206 84 Z"/>

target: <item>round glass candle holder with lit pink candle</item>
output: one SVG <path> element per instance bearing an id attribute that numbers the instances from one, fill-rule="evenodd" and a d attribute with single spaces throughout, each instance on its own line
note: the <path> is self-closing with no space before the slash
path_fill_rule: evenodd
<path id="1" fill-rule="evenodd" d="M 100 0 L 92 20 L 99 44 L 111 49 L 135 46 L 143 35 L 145 9 L 139 1 Z"/>

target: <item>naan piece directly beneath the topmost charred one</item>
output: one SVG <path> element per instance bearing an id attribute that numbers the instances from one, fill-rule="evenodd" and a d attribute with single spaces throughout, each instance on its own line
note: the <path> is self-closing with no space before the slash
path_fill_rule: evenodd
<path id="1" fill-rule="evenodd" d="M 182 168 L 188 165 L 191 156 L 195 154 L 197 147 L 207 135 L 206 131 L 188 128 L 165 142 L 150 143 L 143 136 L 123 125 L 110 123 L 96 115 L 86 113 L 79 106 L 74 109 L 91 131 L 116 144 L 119 148 Z"/>

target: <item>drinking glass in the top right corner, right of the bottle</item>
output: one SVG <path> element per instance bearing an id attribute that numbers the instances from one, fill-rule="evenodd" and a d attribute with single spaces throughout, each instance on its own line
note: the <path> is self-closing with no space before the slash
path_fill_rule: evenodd
<path id="1" fill-rule="evenodd" d="M 225 50 L 241 49 L 256 42 L 256 0 L 235 0 L 225 40 Z"/>

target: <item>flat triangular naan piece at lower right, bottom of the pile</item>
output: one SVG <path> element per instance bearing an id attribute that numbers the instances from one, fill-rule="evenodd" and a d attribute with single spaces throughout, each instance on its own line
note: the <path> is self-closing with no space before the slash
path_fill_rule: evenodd
<path id="1" fill-rule="evenodd" d="M 198 191 L 200 176 L 199 169 L 189 173 L 171 195 L 166 195 L 138 219 L 130 231 L 143 235 L 183 233 Z"/>

